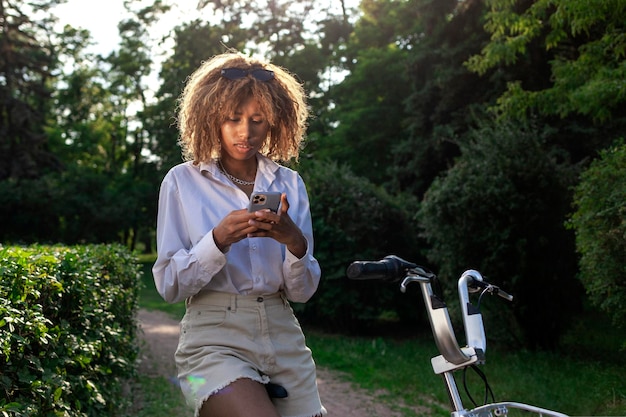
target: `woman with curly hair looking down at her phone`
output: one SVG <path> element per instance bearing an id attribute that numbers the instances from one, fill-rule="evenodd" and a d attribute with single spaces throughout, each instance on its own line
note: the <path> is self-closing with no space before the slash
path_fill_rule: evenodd
<path id="1" fill-rule="evenodd" d="M 298 158 L 302 86 L 275 65 L 225 53 L 189 78 L 178 116 L 186 162 L 161 185 L 153 274 L 166 301 L 186 302 L 181 389 L 201 417 L 321 416 L 315 364 L 288 301 L 306 302 L 319 284 L 309 200 L 300 175 L 276 163 Z M 249 212 L 253 191 L 280 192 L 278 211 Z"/>

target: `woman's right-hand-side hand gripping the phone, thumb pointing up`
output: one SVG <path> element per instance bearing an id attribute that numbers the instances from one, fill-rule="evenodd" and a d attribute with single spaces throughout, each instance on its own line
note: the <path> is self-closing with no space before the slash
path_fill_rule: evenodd
<path id="1" fill-rule="evenodd" d="M 306 239 L 287 213 L 289 210 L 287 194 L 283 193 L 280 201 L 278 213 L 269 210 L 251 213 L 254 216 L 248 220 L 248 225 L 254 230 L 248 232 L 248 237 L 271 237 L 287 246 L 294 256 L 302 258 L 307 250 Z"/>

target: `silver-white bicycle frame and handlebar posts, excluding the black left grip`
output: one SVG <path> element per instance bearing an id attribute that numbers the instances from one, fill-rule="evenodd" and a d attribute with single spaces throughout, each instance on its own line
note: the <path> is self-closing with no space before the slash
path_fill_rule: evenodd
<path id="1" fill-rule="evenodd" d="M 459 347 L 457 342 L 448 308 L 433 292 L 431 277 L 409 270 L 400 284 L 401 291 L 405 292 L 408 284 L 412 282 L 420 284 L 435 343 L 441 353 L 431 359 L 431 364 L 433 371 L 443 376 L 453 409 L 452 417 L 505 417 L 508 415 L 509 409 L 526 410 L 540 416 L 567 417 L 566 414 L 556 411 L 516 402 L 498 402 L 475 407 L 471 410 L 466 409 L 454 379 L 454 371 L 473 364 L 485 363 L 487 339 L 483 319 L 478 308 L 474 307 L 469 299 L 469 284 L 484 282 L 483 277 L 478 271 L 468 270 L 461 275 L 458 281 L 459 301 L 462 307 L 465 340 L 467 341 L 467 346 L 463 348 Z M 512 300 L 512 297 L 504 292 L 499 295 Z"/>

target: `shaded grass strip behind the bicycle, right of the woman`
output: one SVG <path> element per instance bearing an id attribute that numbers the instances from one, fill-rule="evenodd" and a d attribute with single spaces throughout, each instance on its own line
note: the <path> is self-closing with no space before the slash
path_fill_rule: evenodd
<path id="1" fill-rule="evenodd" d="M 447 394 L 429 359 L 437 355 L 431 338 L 390 340 L 306 331 L 318 365 L 341 370 L 360 387 L 384 388 L 382 401 L 429 406 L 432 416 L 449 416 Z M 617 352 L 616 352 L 617 354 Z M 530 403 L 573 416 L 626 415 L 623 361 L 568 358 L 554 352 L 504 352 L 490 348 L 481 370 L 497 401 Z M 456 375 L 463 390 L 462 374 Z M 483 383 L 468 372 L 472 396 L 482 403 Z M 462 393 L 463 403 L 471 402 Z"/>

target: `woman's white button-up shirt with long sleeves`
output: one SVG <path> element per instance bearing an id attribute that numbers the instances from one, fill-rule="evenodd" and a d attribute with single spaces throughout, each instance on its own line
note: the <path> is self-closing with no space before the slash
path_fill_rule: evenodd
<path id="1" fill-rule="evenodd" d="M 157 216 L 157 260 L 152 268 L 161 296 L 170 303 L 203 290 L 243 295 L 284 291 L 305 302 L 320 280 L 313 257 L 309 198 L 300 175 L 257 154 L 255 191 L 287 193 L 289 216 L 307 240 L 298 259 L 285 245 L 268 237 L 246 238 L 222 253 L 213 228 L 231 211 L 248 207 L 248 196 L 217 168 L 215 162 L 172 168 L 161 184 Z"/>

